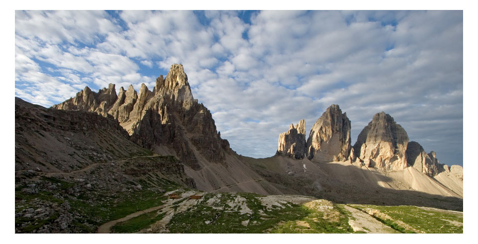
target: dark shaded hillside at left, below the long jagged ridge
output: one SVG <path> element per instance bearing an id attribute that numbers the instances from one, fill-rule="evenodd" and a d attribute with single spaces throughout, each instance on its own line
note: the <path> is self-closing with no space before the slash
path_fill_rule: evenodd
<path id="1" fill-rule="evenodd" d="M 155 205 L 184 166 L 128 139 L 110 118 L 15 99 L 15 233 L 90 233 Z"/>

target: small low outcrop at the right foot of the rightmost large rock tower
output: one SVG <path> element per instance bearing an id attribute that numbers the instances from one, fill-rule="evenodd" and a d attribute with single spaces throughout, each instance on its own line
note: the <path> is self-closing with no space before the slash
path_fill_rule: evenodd
<path id="1" fill-rule="evenodd" d="M 435 176 L 438 174 L 438 160 L 434 157 L 435 152 L 431 151 L 429 154 L 425 152 L 423 147 L 416 141 L 410 141 L 405 151 L 407 155 L 407 164 L 416 168 L 418 171 L 427 174 L 428 176 Z"/>

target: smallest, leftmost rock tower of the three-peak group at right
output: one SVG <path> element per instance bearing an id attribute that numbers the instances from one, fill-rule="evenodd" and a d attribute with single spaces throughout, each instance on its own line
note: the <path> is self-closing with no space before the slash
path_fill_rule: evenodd
<path id="1" fill-rule="evenodd" d="M 305 157 L 305 120 L 301 120 L 295 126 L 290 124 L 288 131 L 280 133 L 276 155 L 285 155 L 295 159 Z"/>

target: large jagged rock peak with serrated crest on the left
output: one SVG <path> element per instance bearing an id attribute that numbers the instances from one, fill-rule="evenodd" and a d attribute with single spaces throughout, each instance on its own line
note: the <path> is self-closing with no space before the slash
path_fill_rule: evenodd
<path id="1" fill-rule="evenodd" d="M 181 64 L 172 65 L 165 79 L 159 76 L 153 91 L 142 84 L 136 93 L 130 85 L 126 91 L 121 87 L 117 96 L 113 84 L 99 93 L 86 87 L 53 108 L 111 115 L 137 144 L 151 150 L 166 147 L 195 170 L 201 168 L 200 158 L 221 163 L 233 152 L 216 130 L 211 112 L 193 98 Z"/>

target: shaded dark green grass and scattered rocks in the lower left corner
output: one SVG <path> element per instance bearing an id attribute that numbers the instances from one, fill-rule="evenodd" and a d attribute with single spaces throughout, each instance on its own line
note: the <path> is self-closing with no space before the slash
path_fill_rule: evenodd
<path id="1" fill-rule="evenodd" d="M 75 195 L 76 189 L 79 188 L 77 182 L 54 177 L 40 179 L 35 187 L 45 190 L 39 190 L 37 193 L 22 192 L 27 186 L 15 188 L 17 233 L 36 233 L 49 225 L 59 224 L 63 219 L 67 222 L 64 229 L 68 228 L 73 233 L 95 233 L 97 227 L 103 223 L 162 205 L 166 199 L 162 196 L 164 191 L 180 187 L 170 181 L 156 180 L 162 183 L 162 190 L 159 191 L 146 181 L 138 180 L 146 189 L 139 190 L 136 188 L 137 182 L 128 182 L 129 186 L 124 188 L 125 191 L 82 189 Z"/>

